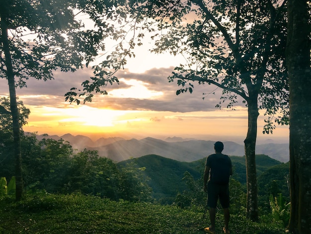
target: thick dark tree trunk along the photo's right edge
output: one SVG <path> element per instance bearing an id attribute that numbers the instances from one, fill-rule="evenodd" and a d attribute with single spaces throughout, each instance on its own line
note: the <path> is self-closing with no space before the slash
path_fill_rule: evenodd
<path id="1" fill-rule="evenodd" d="M 311 42 L 307 4 L 307 0 L 288 0 L 291 194 L 288 230 L 294 234 L 311 233 Z"/>

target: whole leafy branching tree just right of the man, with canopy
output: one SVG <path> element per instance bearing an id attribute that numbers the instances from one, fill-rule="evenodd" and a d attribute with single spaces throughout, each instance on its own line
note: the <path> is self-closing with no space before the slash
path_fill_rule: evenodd
<path id="1" fill-rule="evenodd" d="M 288 122 L 288 82 L 285 67 L 286 7 L 277 0 L 139 0 L 132 7 L 149 17 L 145 27 L 161 32 L 154 52 L 181 53 L 187 64 L 176 67 L 176 94 L 193 92 L 194 83 L 223 90 L 221 108 L 233 108 L 238 96 L 248 110 L 244 140 L 247 168 L 247 217 L 258 219 L 255 144 L 259 110 L 267 116 L 265 133 Z M 185 18 L 194 18 L 186 20 Z M 211 95 L 208 93 L 206 95 Z"/>

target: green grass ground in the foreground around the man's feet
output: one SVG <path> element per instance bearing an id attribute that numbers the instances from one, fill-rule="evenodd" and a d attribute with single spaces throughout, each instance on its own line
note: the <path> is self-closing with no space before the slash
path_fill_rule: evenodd
<path id="1" fill-rule="evenodd" d="M 208 214 L 204 208 L 180 209 L 151 203 L 114 202 L 73 195 L 40 195 L 21 202 L 0 198 L 1 234 L 203 234 Z M 223 217 L 217 215 L 218 233 Z M 276 224 L 252 223 L 242 215 L 231 216 L 231 234 L 284 234 Z"/>

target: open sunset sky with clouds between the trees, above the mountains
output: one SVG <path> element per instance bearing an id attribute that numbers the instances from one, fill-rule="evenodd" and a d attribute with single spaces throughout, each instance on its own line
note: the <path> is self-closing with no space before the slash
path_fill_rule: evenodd
<path id="1" fill-rule="evenodd" d="M 177 83 L 167 77 L 175 66 L 184 63 L 182 56 L 152 54 L 146 43 L 136 49 L 135 58 L 128 59 L 123 70 L 115 75 L 120 84 L 107 86 L 108 95 L 96 95 L 92 103 L 83 105 L 65 102 L 64 94 L 92 76 L 91 69 L 75 73 L 54 72 L 54 80 L 29 79 L 27 88 L 17 88 L 16 94 L 30 109 L 24 131 L 49 135 L 120 136 L 125 139 L 185 139 L 232 140 L 243 144 L 247 132 L 247 109 L 242 100 L 235 110 L 215 106 L 222 90 L 215 86 L 195 85 L 193 93 L 176 95 Z M 100 62 L 99 60 L 96 62 Z M 215 90 L 216 89 L 216 90 Z M 214 94 L 203 95 L 203 93 Z M 0 79 L 0 97 L 8 97 L 5 79 Z M 204 100 L 203 100 L 204 98 Z M 273 134 L 263 134 L 264 116 L 258 118 L 258 143 L 287 143 L 289 127 L 278 126 Z"/>

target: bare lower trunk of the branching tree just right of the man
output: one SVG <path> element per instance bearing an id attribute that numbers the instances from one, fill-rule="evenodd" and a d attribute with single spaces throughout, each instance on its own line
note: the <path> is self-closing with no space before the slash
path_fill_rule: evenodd
<path id="1" fill-rule="evenodd" d="M 244 140 L 245 159 L 246 159 L 246 218 L 251 221 L 258 221 L 258 190 L 256 174 L 256 137 L 257 137 L 257 118 L 258 105 L 257 95 L 250 94 L 248 100 L 248 127 L 247 135 Z"/>

